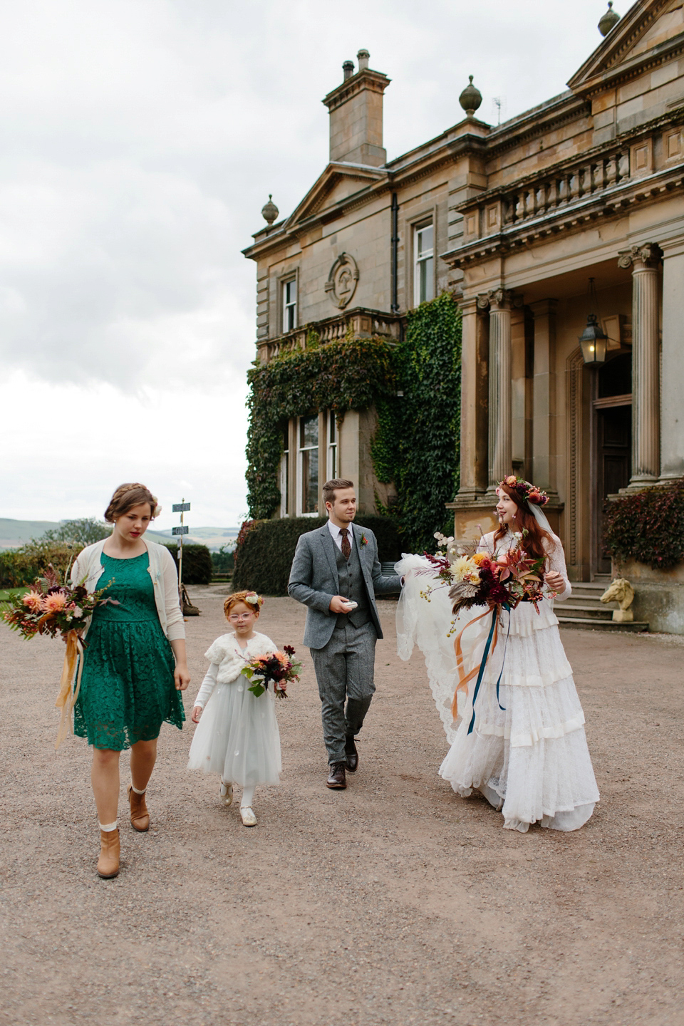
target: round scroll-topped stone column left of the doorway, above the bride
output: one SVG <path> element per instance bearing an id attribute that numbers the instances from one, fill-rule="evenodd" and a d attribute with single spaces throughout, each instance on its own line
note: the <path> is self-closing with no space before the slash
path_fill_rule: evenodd
<path id="1" fill-rule="evenodd" d="M 489 480 L 487 492 L 511 473 L 511 306 L 513 295 L 494 288 L 478 295 L 481 309 L 489 307 Z"/>

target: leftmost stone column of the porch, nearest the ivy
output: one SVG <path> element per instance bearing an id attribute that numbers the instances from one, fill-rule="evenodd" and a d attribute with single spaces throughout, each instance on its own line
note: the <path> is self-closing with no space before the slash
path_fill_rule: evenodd
<path id="1" fill-rule="evenodd" d="M 469 503 L 487 488 L 487 324 L 476 297 L 460 301 L 460 484 Z"/>

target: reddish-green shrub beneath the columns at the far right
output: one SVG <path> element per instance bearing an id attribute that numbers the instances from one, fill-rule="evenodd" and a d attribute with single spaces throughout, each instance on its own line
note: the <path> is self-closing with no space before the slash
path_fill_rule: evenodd
<path id="1" fill-rule="evenodd" d="M 606 503 L 603 542 L 618 559 L 671 569 L 684 559 L 684 478 Z"/>

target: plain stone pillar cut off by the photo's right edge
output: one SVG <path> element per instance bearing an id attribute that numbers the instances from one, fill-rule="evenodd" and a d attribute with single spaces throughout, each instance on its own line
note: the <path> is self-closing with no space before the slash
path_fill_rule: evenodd
<path id="1" fill-rule="evenodd" d="M 660 480 L 684 477 L 684 238 L 662 243 L 662 396 Z"/>

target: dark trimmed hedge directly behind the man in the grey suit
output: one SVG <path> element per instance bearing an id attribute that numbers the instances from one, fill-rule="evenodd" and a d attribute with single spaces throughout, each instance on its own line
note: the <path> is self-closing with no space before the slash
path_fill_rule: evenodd
<path id="1" fill-rule="evenodd" d="M 286 595 L 290 566 L 300 535 L 316 530 L 326 517 L 283 517 L 281 520 L 251 520 L 243 524 L 235 552 L 235 591 L 249 588 L 265 595 Z M 381 516 L 359 516 L 359 525 L 372 530 L 377 539 L 380 562 L 401 557 L 399 532 L 393 520 Z"/>

